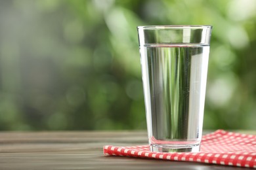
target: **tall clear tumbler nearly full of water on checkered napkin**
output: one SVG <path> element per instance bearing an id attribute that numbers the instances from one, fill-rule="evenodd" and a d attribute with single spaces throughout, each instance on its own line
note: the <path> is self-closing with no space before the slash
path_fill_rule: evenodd
<path id="1" fill-rule="evenodd" d="M 200 150 L 211 28 L 137 27 L 151 151 Z"/>

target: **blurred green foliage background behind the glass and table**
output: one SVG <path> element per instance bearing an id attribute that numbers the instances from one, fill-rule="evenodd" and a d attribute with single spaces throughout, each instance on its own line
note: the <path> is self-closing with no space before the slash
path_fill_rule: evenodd
<path id="1" fill-rule="evenodd" d="M 256 1 L 0 1 L 0 130 L 146 129 L 137 25 L 213 25 L 204 129 L 256 129 Z"/>

